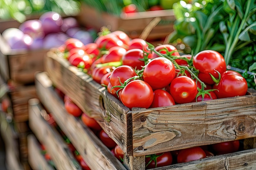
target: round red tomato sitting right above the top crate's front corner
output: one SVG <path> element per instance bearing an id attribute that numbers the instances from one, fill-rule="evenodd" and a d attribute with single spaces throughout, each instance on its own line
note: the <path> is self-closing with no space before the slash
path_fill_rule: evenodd
<path id="1" fill-rule="evenodd" d="M 147 82 L 142 80 L 129 82 L 120 94 L 121 102 L 130 109 L 133 107 L 149 108 L 153 98 L 152 88 Z"/>

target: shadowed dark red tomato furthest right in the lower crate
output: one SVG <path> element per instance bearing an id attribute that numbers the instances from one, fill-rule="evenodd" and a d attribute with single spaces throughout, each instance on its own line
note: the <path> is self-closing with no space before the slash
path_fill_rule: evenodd
<path id="1" fill-rule="evenodd" d="M 235 141 L 226 141 L 212 145 L 213 152 L 216 155 L 222 155 L 232 152 L 237 152 L 239 150 L 240 142 L 239 140 Z"/>

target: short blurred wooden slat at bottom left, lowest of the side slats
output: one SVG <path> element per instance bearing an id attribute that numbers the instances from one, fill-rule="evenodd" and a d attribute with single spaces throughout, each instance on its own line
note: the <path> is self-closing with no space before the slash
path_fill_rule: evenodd
<path id="1" fill-rule="evenodd" d="M 27 136 L 28 142 L 28 161 L 33 170 L 54 170 L 54 168 L 47 163 L 45 157 L 41 153 L 40 145 L 34 135 Z"/>

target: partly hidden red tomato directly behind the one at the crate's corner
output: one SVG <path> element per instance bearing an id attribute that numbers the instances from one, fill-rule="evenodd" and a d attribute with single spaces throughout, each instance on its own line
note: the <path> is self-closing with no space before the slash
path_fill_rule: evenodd
<path id="1" fill-rule="evenodd" d="M 121 83 L 124 83 L 127 79 L 136 76 L 135 70 L 126 65 L 118 66 L 110 74 L 110 83 L 112 86 L 119 86 Z"/>

